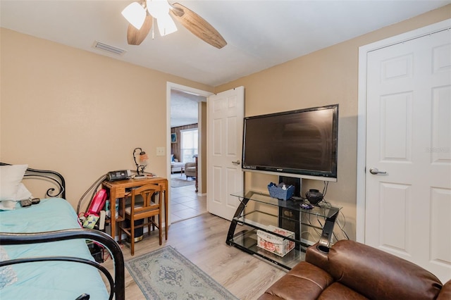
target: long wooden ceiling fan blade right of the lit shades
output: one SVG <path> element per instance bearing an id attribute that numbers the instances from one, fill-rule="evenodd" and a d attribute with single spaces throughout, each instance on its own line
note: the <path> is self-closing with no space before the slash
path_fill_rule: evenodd
<path id="1" fill-rule="evenodd" d="M 187 30 L 190 30 L 192 34 L 218 49 L 226 46 L 227 42 L 218 30 L 214 29 L 200 15 L 179 3 L 171 4 L 171 6 L 174 9 L 171 9 L 169 12 L 173 18 L 178 20 Z"/>

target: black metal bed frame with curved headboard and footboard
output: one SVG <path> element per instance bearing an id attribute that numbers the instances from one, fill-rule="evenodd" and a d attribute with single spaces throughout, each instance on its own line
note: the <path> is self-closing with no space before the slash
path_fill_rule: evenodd
<path id="1" fill-rule="evenodd" d="M 10 165 L 8 163 L 0 163 L 0 165 Z M 51 187 L 47 189 L 47 196 L 55 198 L 60 196 L 66 199 L 66 181 L 63 175 L 51 170 L 38 170 L 28 168 L 24 177 L 45 178 L 51 180 L 58 190 Z M 106 268 L 97 263 L 97 261 L 90 261 L 85 258 L 71 257 L 71 256 L 45 256 L 33 258 L 18 258 L 9 261 L 0 261 L 0 267 L 6 265 L 14 265 L 16 263 L 32 263 L 35 261 L 71 261 L 74 263 L 85 263 L 97 268 L 103 273 L 110 285 L 109 299 L 125 300 L 125 263 L 121 247 L 109 235 L 98 230 L 88 229 L 69 229 L 56 230 L 49 232 L 35 232 L 35 233 L 7 233 L 0 232 L 0 245 L 18 245 L 18 244 L 34 244 L 45 242 L 56 242 L 68 239 L 89 239 L 103 245 L 111 254 L 114 261 L 114 276 L 109 273 Z M 78 299 L 89 299 L 88 295 L 80 295 Z"/>

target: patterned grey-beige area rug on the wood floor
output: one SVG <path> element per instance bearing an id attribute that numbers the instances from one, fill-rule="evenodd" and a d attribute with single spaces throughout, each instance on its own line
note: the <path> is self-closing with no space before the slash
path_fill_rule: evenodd
<path id="1" fill-rule="evenodd" d="M 234 299 L 172 246 L 125 262 L 146 299 Z"/>

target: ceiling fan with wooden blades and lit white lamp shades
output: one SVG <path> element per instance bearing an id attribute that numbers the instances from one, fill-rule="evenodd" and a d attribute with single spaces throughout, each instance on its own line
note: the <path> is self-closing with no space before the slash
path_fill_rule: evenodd
<path id="1" fill-rule="evenodd" d="M 154 37 L 155 19 L 160 35 L 169 35 L 177 31 L 173 18 L 211 46 L 221 49 L 227 44 L 221 34 L 200 15 L 182 4 L 170 4 L 168 0 L 133 2 L 124 8 L 122 15 L 130 23 L 127 30 L 127 42 L 130 45 L 141 44 L 151 28 L 152 38 Z"/>

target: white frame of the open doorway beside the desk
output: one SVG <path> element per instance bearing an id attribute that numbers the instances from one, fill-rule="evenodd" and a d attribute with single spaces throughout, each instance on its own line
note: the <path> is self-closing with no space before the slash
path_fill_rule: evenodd
<path id="1" fill-rule="evenodd" d="M 166 161 L 171 161 L 171 89 L 179 89 L 180 91 L 197 94 L 199 96 L 204 96 L 208 98 L 213 92 L 207 92 L 202 89 L 194 89 L 194 87 L 187 87 L 186 85 L 178 85 L 174 82 L 166 82 Z M 206 120 L 202 120 L 202 122 L 206 122 Z M 202 153 L 202 144 L 199 144 L 199 153 Z M 171 185 L 171 163 L 167 164 L 166 174 L 168 174 L 168 183 Z M 197 165 L 197 176 L 202 178 L 202 160 L 199 159 Z M 199 179 L 198 178 L 198 179 Z M 199 183 L 199 191 L 202 191 L 202 180 L 197 180 Z M 171 198 L 168 199 L 170 201 Z M 169 224 L 171 225 L 171 204 L 168 202 L 168 216 L 169 216 Z"/>

